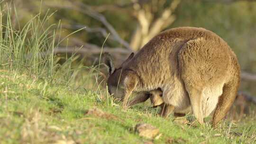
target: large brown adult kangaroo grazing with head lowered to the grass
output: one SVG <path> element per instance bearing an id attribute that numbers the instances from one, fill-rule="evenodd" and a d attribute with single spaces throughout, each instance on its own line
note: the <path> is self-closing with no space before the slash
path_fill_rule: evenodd
<path id="1" fill-rule="evenodd" d="M 199 124 L 214 110 L 215 127 L 227 114 L 240 83 L 236 54 L 215 33 L 204 28 L 177 27 L 153 37 L 115 68 L 109 67 L 108 91 L 127 108 L 133 91 L 163 91 L 165 109 L 176 113 L 192 110 Z"/>

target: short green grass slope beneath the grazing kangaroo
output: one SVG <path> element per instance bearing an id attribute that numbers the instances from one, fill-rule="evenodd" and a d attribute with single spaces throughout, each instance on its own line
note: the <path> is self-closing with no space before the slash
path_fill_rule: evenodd
<path id="1" fill-rule="evenodd" d="M 186 126 L 173 122 L 173 117 L 156 116 L 156 110 L 138 105 L 124 111 L 108 94 L 51 84 L 26 73 L 0 70 L 0 141 L 11 143 L 59 144 L 155 144 L 176 143 L 223 144 L 255 142 L 256 126 L 231 128 L 226 123 L 218 130 L 207 125 Z M 86 114 L 100 108 L 104 114 Z M 150 140 L 134 131 L 137 123 L 159 128 L 159 139 Z M 252 123 L 253 124 L 253 123 Z M 250 129 L 248 129 L 248 127 Z"/>

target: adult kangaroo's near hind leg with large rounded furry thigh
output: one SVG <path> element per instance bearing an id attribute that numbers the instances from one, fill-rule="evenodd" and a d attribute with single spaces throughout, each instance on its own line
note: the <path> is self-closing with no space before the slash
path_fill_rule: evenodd
<path id="1" fill-rule="evenodd" d="M 225 54 L 217 53 L 215 47 L 218 45 L 204 38 L 195 38 L 184 43 L 178 52 L 178 74 L 189 95 L 193 115 L 200 124 L 203 124 L 203 90 L 212 78 L 226 72 L 226 65 L 218 64 L 225 60 Z"/>

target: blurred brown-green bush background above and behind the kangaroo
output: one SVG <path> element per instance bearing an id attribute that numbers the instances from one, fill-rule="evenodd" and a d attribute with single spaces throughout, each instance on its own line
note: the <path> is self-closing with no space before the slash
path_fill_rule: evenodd
<path id="1" fill-rule="evenodd" d="M 38 12 L 54 13 L 50 22 L 61 22 L 61 37 L 85 27 L 69 36 L 63 46 L 100 48 L 110 33 L 106 47 L 131 52 L 165 29 L 204 27 L 230 45 L 242 71 L 256 73 L 254 0 L 12 0 L 13 5 L 17 28 Z M 90 55 L 90 50 L 86 53 Z M 255 84 L 242 81 L 241 90 L 256 95 Z"/>

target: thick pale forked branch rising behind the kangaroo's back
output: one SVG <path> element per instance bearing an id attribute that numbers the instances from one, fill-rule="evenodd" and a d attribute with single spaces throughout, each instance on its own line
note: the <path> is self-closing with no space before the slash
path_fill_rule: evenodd
<path id="1" fill-rule="evenodd" d="M 151 38 L 153 38 L 166 27 L 171 25 L 175 20 L 173 11 L 177 8 L 180 1 L 181 0 L 173 0 L 170 6 L 165 8 L 162 14 L 155 20 L 153 20 L 153 18 L 155 18 L 155 12 L 159 10 L 159 7 L 154 7 L 154 4 L 150 5 L 150 7 L 152 7 L 151 9 L 155 8 L 155 10 L 152 11 L 147 9 L 147 7 L 142 7 L 140 4 L 135 3 L 134 9 L 136 12 L 136 18 L 139 22 L 139 27 L 137 27 L 135 34 L 131 38 L 130 45 L 132 45 L 132 48 L 138 50 L 141 46 L 145 45 Z M 160 2 L 160 5 L 164 5 L 165 3 L 164 0 L 153 0 L 152 2 Z"/>

